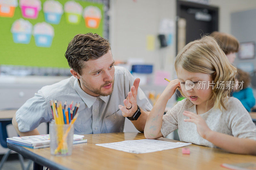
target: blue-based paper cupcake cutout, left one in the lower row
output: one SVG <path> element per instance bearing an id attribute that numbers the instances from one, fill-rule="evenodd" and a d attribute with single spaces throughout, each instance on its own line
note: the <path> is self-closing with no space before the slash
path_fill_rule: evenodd
<path id="1" fill-rule="evenodd" d="M 31 39 L 32 24 L 20 18 L 13 22 L 11 32 L 15 43 L 28 44 Z"/>

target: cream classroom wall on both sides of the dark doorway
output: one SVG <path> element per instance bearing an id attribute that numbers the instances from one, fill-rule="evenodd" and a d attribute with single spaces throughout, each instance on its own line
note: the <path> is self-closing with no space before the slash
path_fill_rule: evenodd
<path id="1" fill-rule="evenodd" d="M 219 31 L 231 33 L 231 13 L 256 8 L 255 0 L 210 0 L 219 7 Z M 159 49 L 158 26 L 163 18 L 175 20 L 176 0 L 110 0 L 110 43 L 115 60 L 126 61 L 129 57 L 143 58 L 160 68 L 159 57 L 166 58 L 164 70 L 173 71 L 175 35 L 173 45 Z M 156 49 L 146 48 L 147 35 L 155 35 Z M 172 74 L 174 75 L 174 74 Z"/>

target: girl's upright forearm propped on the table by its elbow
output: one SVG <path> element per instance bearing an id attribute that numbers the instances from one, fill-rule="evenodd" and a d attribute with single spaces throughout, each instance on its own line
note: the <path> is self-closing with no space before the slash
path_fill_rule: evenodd
<path id="1" fill-rule="evenodd" d="M 163 137 L 160 130 L 162 127 L 163 115 L 167 102 L 168 99 L 166 99 L 164 95 L 161 95 L 156 101 L 153 109 L 150 111 L 144 129 L 144 135 L 146 138 L 156 139 Z"/>

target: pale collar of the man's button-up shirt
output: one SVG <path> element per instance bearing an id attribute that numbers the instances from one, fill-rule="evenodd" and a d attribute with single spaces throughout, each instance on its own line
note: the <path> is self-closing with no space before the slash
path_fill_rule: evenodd
<path id="1" fill-rule="evenodd" d="M 87 94 L 83 91 L 83 89 L 80 86 L 79 80 L 76 78 L 74 82 L 74 88 L 78 95 L 82 98 L 84 103 L 87 105 L 88 108 L 92 107 L 93 103 L 97 100 L 97 97 L 91 96 L 90 94 Z M 108 96 L 99 96 L 101 100 L 103 100 L 105 103 L 108 100 Z"/>

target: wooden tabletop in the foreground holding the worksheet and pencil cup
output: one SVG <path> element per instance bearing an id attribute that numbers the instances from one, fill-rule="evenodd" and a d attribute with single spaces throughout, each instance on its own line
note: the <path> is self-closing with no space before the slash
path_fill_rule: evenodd
<path id="1" fill-rule="evenodd" d="M 188 145 L 190 155 L 182 154 L 182 148 L 159 152 L 135 154 L 109 149 L 95 144 L 145 139 L 143 133 L 105 133 L 84 135 L 87 143 L 74 144 L 71 156 L 56 157 L 50 148 L 30 149 L 15 144 L 8 148 L 50 169 L 226 169 L 222 163 L 256 161 L 256 156 L 232 154 L 221 149 Z M 159 140 L 177 142 L 167 138 Z"/>

